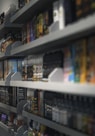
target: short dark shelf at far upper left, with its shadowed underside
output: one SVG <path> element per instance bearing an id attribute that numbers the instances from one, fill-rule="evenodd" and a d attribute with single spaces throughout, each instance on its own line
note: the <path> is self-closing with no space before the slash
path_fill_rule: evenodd
<path id="1" fill-rule="evenodd" d="M 7 34 L 9 30 L 18 31 L 21 27 L 22 25 L 11 24 L 10 22 L 3 23 L 2 25 L 0 25 L 0 38 L 4 38 L 4 35 Z"/>

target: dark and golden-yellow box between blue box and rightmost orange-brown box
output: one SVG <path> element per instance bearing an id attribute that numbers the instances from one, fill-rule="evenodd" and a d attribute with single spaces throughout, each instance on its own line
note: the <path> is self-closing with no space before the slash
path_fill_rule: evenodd
<path id="1" fill-rule="evenodd" d="M 73 46 L 75 82 L 86 82 L 86 39 L 79 40 Z"/>

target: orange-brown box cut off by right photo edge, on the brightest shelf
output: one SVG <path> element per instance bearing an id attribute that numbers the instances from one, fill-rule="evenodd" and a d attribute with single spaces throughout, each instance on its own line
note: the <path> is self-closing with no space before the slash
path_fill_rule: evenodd
<path id="1" fill-rule="evenodd" d="M 87 44 L 87 82 L 95 83 L 95 36 L 88 38 L 88 44 Z"/>

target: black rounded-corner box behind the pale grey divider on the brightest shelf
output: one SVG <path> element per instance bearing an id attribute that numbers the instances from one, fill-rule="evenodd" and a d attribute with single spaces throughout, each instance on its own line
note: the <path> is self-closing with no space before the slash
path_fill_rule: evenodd
<path id="1" fill-rule="evenodd" d="M 43 56 L 43 78 L 48 78 L 55 68 L 63 67 L 63 52 L 58 50 Z"/>

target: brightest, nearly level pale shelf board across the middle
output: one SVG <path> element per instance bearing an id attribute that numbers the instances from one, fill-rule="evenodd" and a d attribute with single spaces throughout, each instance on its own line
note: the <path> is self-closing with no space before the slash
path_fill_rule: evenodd
<path id="1" fill-rule="evenodd" d="M 95 85 L 57 82 L 11 81 L 11 86 L 41 89 L 68 94 L 95 96 Z"/>

